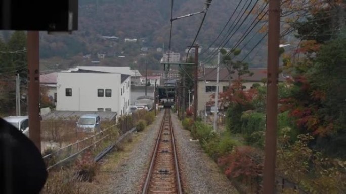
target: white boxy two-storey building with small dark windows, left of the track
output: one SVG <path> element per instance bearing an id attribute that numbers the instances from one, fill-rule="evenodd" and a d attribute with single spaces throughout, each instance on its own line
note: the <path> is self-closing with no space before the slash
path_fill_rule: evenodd
<path id="1" fill-rule="evenodd" d="M 128 113 L 130 104 L 128 74 L 76 69 L 58 73 L 58 111 Z"/>

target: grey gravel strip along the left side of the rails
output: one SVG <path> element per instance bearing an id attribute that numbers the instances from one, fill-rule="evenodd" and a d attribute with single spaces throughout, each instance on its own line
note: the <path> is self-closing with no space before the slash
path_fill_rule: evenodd
<path id="1" fill-rule="evenodd" d="M 144 132 L 146 134 L 133 147 L 129 156 L 112 172 L 112 181 L 107 193 L 134 194 L 140 192 L 150 162 L 148 156 L 155 145 L 162 117 L 163 111 Z"/>

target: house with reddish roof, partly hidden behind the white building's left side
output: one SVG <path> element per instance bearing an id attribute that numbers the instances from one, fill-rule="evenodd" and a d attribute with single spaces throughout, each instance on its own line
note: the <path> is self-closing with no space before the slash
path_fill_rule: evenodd
<path id="1" fill-rule="evenodd" d="M 56 105 L 57 102 L 57 72 L 39 75 L 40 86 L 47 89 L 47 95 Z"/>

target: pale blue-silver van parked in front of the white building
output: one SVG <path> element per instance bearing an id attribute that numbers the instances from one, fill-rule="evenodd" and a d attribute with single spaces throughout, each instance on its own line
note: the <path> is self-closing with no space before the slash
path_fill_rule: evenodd
<path id="1" fill-rule="evenodd" d="M 101 119 L 97 114 L 85 114 L 78 119 L 77 131 L 99 132 L 101 130 Z"/>

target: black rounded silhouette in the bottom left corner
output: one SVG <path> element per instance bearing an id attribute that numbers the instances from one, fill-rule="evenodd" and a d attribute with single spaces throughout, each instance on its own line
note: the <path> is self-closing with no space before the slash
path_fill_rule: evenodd
<path id="1" fill-rule="evenodd" d="M 47 176 L 42 155 L 34 143 L 0 118 L 0 193 L 39 193 Z"/>

